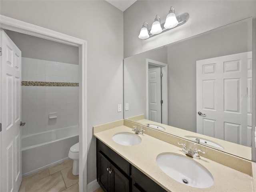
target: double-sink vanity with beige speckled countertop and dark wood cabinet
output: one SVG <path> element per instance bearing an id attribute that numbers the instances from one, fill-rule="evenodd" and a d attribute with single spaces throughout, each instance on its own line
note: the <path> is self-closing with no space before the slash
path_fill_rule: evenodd
<path id="1" fill-rule="evenodd" d="M 143 135 L 136 135 L 141 138 L 139 144 L 126 146 L 113 140 L 113 136 L 120 133 L 135 135 L 132 126 L 145 129 Z M 97 138 L 97 180 L 104 191 L 253 191 L 252 162 L 248 160 L 226 154 L 224 157 L 222 156 L 223 152 L 170 136 L 140 124 L 134 124 L 128 120 L 96 126 L 94 127 L 94 136 Z M 217 158 L 222 158 L 227 164 L 232 165 L 232 168 L 208 158 L 209 156 L 206 154 L 200 159 L 187 157 L 182 153 L 182 148 L 176 146 L 178 145 L 177 141 L 186 143 L 188 148 L 195 147 L 205 151 L 208 155 L 214 154 Z M 200 184 L 197 187 L 192 187 L 171 178 L 158 166 L 157 158 L 162 154 L 175 154 L 182 158 L 188 158 L 189 161 L 210 172 L 214 180 L 213 184 L 207 188 L 202 188 Z M 182 167 L 180 164 L 178 166 Z M 197 184 L 198 181 L 194 180 L 194 182 Z"/>

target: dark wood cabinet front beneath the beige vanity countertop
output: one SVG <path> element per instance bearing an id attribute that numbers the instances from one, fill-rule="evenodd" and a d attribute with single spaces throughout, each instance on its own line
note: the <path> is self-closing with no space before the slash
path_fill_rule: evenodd
<path id="1" fill-rule="evenodd" d="M 97 181 L 105 192 L 166 192 L 97 139 Z"/>

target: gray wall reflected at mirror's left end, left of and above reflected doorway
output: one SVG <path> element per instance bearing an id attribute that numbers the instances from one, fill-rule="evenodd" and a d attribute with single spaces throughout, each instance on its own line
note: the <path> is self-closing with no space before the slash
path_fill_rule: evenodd
<path id="1" fill-rule="evenodd" d="M 124 59 L 124 103 L 129 110 L 124 118 L 146 115 L 146 59 L 167 63 L 167 48 L 141 53 Z"/>

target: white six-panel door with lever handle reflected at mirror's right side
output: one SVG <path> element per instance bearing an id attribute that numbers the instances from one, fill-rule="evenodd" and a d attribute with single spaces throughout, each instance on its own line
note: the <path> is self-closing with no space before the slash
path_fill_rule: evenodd
<path id="1" fill-rule="evenodd" d="M 244 52 L 196 62 L 196 110 L 202 113 L 196 118 L 198 133 L 248 145 L 250 55 Z"/>

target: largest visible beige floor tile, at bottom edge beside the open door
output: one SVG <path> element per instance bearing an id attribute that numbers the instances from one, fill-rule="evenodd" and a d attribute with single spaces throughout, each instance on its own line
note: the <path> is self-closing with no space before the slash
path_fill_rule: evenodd
<path id="1" fill-rule="evenodd" d="M 66 189 L 60 172 L 56 172 L 34 183 L 27 183 L 25 192 L 61 192 Z"/>

